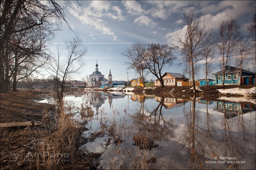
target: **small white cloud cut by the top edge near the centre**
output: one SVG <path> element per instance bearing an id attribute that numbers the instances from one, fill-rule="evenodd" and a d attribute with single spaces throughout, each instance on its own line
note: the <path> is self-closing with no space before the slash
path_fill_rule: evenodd
<path id="1" fill-rule="evenodd" d="M 140 15 L 144 11 L 137 1 L 122 1 L 122 4 L 129 14 Z"/>

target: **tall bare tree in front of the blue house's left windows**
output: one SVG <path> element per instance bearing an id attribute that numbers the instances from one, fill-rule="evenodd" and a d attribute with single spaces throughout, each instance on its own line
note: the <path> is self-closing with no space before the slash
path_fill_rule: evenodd
<path id="1" fill-rule="evenodd" d="M 239 29 L 240 26 L 237 24 L 237 21 L 232 18 L 223 21 L 219 27 L 218 49 L 222 57 L 222 86 L 225 85 L 224 76 L 229 56 L 234 54 L 237 44 L 243 39 Z"/>

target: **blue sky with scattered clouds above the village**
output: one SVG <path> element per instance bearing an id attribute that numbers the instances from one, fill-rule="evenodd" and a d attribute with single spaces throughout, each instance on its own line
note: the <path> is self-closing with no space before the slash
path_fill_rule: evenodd
<path id="1" fill-rule="evenodd" d="M 205 16 L 208 26 L 218 29 L 222 21 L 236 19 L 241 32 L 247 33 L 247 26 L 256 13 L 255 1 L 76 1 L 65 10 L 66 20 L 76 35 L 83 40 L 87 48 L 84 58 L 86 65 L 76 75 L 81 80 L 95 71 L 96 59 L 99 71 L 108 78 L 111 69 L 113 80 L 137 78 L 134 70 L 127 70 L 126 57 L 122 53 L 133 43 L 172 43 L 172 33 L 180 32 L 184 12 L 194 10 Z M 62 31 L 57 32 L 53 43 L 63 43 L 65 39 L 75 37 L 75 33 L 63 23 Z M 180 67 L 180 54 L 173 66 L 162 71 L 183 73 Z M 216 66 L 217 66 L 216 61 Z M 220 71 L 215 67 L 212 73 Z M 188 75 L 186 75 L 189 77 Z M 196 79 L 204 78 L 204 71 Z M 155 80 L 148 74 L 146 79 Z"/>

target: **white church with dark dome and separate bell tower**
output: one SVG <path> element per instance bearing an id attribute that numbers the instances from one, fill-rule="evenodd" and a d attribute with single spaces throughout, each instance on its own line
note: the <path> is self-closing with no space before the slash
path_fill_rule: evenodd
<path id="1" fill-rule="evenodd" d="M 95 71 L 89 75 L 90 76 L 89 81 L 86 81 L 86 87 L 100 87 L 101 85 L 104 85 L 106 82 L 112 80 L 112 75 L 110 70 L 109 70 L 108 79 L 106 79 L 104 77 L 105 75 L 101 74 L 99 71 L 98 62 L 96 62 L 95 66 L 96 66 Z"/>

